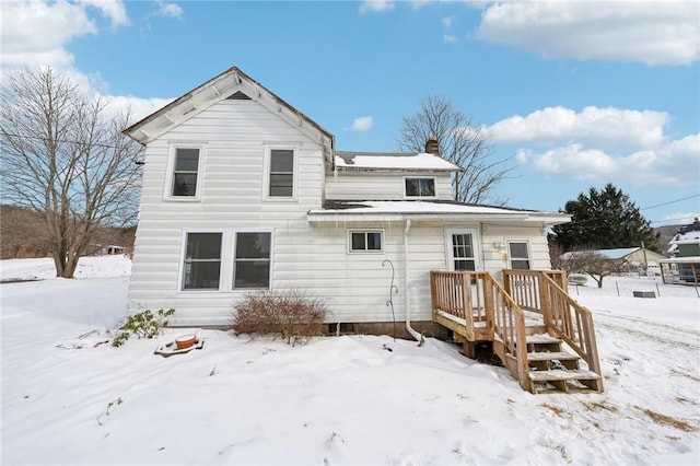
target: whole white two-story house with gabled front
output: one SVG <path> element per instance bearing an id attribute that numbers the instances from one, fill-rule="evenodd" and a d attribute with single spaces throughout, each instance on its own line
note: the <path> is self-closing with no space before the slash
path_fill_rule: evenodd
<path id="1" fill-rule="evenodd" d="M 397 319 L 430 333 L 430 270 L 549 269 L 546 229 L 570 221 L 455 202 L 462 168 L 434 140 L 418 154 L 336 151 L 237 68 L 125 133 L 145 145 L 129 305 L 174 307 L 176 326 L 225 326 L 249 292 L 298 289 L 325 301 L 332 331 L 386 331 L 392 298 Z"/>

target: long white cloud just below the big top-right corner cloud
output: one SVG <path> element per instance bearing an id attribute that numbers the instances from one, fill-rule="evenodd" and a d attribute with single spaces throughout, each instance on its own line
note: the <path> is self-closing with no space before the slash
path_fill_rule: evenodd
<path id="1" fill-rule="evenodd" d="M 503 119 L 488 128 L 499 142 L 561 143 L 642 149 L 664 142 L 665 112 L 631 110 L 615 107 L 573 109 L 547 107 L 522 117 Z"/>

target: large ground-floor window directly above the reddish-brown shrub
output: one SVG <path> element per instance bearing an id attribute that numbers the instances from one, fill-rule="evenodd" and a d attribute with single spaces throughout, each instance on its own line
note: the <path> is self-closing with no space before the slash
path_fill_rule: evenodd
<path id="1" fill-rule="evenodd" d="M 233 270 L 233 288 L 270 288 L 269 232 L 236 233 Z"/>

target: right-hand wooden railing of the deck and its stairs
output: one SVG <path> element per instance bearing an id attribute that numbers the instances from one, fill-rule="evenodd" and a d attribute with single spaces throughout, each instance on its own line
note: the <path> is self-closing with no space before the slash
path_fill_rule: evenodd
<path id="1" fill-rule="evenodd" d="M 542 314 L 547 331 L 565 341 L 590 371 L 602 375 L 593 315 L 565 291 L 565 272 L 503 270 L 503 283 L 521 307 Z"/>

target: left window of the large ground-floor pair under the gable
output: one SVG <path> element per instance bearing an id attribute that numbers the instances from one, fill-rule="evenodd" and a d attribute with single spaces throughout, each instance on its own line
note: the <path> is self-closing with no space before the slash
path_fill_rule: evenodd
<path id="1" fill-rule="evenodd" d="M 222 233 L 187 233 L 183 290 L 218 290 Z"/>

